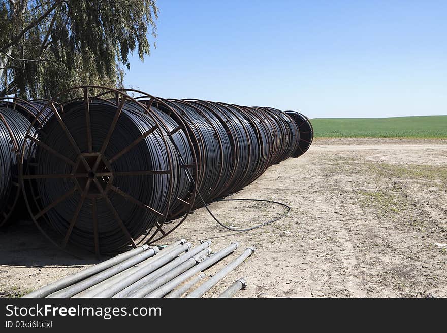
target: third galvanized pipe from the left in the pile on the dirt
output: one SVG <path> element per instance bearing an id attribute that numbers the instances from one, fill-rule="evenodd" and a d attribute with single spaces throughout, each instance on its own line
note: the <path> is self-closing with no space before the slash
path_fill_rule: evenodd
<path id="1" fill-rule="evenodd" d="M 186 243 L 186 240 L 184 239 L 180 239 L 177 242 L 174 242 L 172 244 L 170 244 L 169 246 L 167 246 L 166 248 L 164 248 L 163 250 L 160 250 L 157 255 L 154 255 L 148 259 L 146 259 L 145 261 L 142 261 L 141 263 L 138 263 L 137 265 L 130 267 L 94 286 L 91 286 L 88 289 L 85 289 L 84 291 L 81 291 L 80 293 L 74 295 L 74 298 L 79 298 L 79 297 L 93 297 L 95 294 L 100 293 L 103 290 L 106 290 L 107 288 L 109 288 L 111 285 L 115 284 L 116 282 L 118 282 L 119 280 L 121 280 L 122 278 L 129 276 L 133 273 L 135 273 L 136 271 L 138 271 L 139 269 L 145 267 L 146 265 L 149 265 L 150 263 L 152 263 L 155 260 L 158 260 L 159 258 L 161 258 L 163 255 L 166 255 L 168 253 L 170 253 L 172 250 L 174 250 L 175 248 L 177 248 L 180 245 L 183 245 L 184 243 Z"/>

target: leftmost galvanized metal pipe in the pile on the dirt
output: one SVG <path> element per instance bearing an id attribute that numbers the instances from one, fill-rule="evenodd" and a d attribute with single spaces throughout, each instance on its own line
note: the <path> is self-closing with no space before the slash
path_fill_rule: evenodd
<path id="1" fill-rule="evenodd" d="M 84 280 L 89 276 L 102 272 L 116 264 L 119 264 L 139 253 L 146 251 L 147 249 L 149 249 L 149 245 L 139 246 L 135 249 L 121 253 L 113 258 L 103 261 L 102 263 L 90 266 L 78 273 L 69 275 L 63 279 L 50 283 L 38 290 L 35 290 L 33 292 L 28 293 L 27 295 L 24 295 L 23 297 L 46 297 L 51 293 L 59 291 L 68 286 L 71 286 L 72 284 Z"/>

